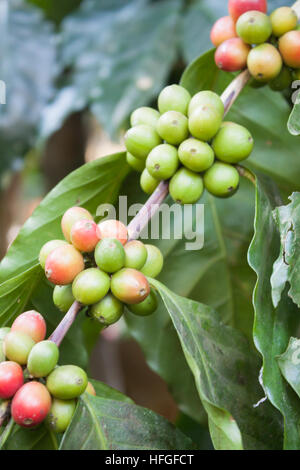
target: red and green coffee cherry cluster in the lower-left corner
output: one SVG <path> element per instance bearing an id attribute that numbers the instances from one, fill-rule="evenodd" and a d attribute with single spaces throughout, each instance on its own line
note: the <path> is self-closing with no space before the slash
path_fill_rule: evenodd
<path id="1" fill-rule="evenodd" d="M 0 398 L 11 400 L 11 416 L 20 426 L 46 421 L 62 433 L 77 398 L 85 391 L 96 392 L 83 369 L 57 365 L 58 347 L 45 337 L 45 320 L 34 310 L 19 315 L 11 328 L 0 328 Z"/>

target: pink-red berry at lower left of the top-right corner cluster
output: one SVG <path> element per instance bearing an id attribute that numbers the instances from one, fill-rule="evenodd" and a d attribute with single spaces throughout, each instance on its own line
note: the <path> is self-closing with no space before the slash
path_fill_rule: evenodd
<path id="1" fill-rule="evenodd" d="M 247 66 L 247 57 L 251 50 L 240 38 L 222 42 L 215 53 L 217 67 L 226 72 L 237 72 Z"/>

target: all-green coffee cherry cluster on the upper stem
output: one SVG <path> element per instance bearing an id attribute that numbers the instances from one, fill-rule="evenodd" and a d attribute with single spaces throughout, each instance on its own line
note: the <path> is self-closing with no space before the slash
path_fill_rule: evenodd
<path id="1" fill-rule="evenodd" d="M 253 138 L 245 127 L 222 122 L 221 98 L 212 91 L 191 97 L 170 85 L 160 93 L 158 109 L 136 109 L 125 135 L 127 162 L 141 172 L 143 191 L 151 194 L 170 179 L 170 195 L 180 204 L 197 202 L 204 188 L 217 197 L 233 195 L 239 185 L 233 165 L 249 157 Z"/>

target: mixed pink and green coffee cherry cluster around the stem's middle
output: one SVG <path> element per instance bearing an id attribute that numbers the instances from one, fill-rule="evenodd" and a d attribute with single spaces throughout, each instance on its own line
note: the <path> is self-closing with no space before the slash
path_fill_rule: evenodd
<path id="1" fill-rule="evenodd" d="M 56 285 L 53 301 L 61 311 L 76 300 L 109 326 L 121 318 L 124 304 L 141 316 L 157 309 L 156 293 L 146 278 L 162 270 L 157 247 L 128 241 L 127 227 L 118 220 L 96 224 L 82 207 L 68 209 L 61 227 L 65 240 L 47 242 L 39 256 L 47 279 Z"/>

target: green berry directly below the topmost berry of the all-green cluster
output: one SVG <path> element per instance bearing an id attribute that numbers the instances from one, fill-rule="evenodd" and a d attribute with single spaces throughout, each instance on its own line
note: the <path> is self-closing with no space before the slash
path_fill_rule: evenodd
<path id="1" fill-rule="evenodd" d="M 168 144 L 179 145 L 189 135 L 188 119 L 179 111 L 167 111 L 157 121 L 156 130 Z"/>

